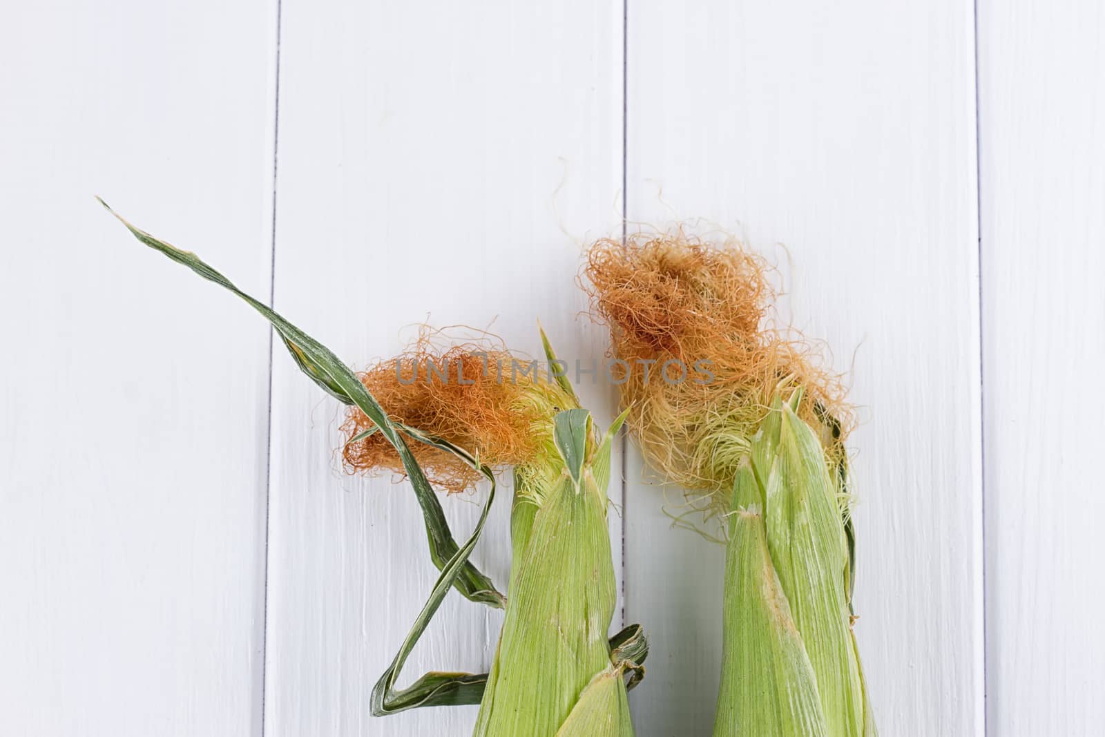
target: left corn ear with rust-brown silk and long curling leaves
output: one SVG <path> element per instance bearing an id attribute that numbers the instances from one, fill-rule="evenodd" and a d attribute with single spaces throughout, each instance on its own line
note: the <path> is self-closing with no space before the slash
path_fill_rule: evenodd
<path id="1" fill-rule="evenodd" d="M 141 243 L 261 313 L 301 370 L 350 407 L 345 446 L 350 470 L 390 468 L 410 481 L 441 576 L 372 689 L 373 715 L 480 703 L 477 735 L 632 735 L 625 693 L 643 675 L 648 644 L 638 625 L 607 636 L 615 592 L 606 489 L 610 445 L 624 415 L 600 441 L 566 380 L 532 378 L 505 388 L 502 381 L 470 383 L 463 349 L 435 357 L 439 366 L 455 364 L 455 385 L 431 381 L 412 394 L 409 388 L 396 391 L 399 382 L 387 370 L 358 377 L 196 254 L 119 220 Z M 486 354 L 482 358 L 469 364 L 482 364 L 486 379 Z M 469 561 L 495 495 L 492 465 L 514 466 L 509 600 Z M 472 536 L 457 545 L 431 481 L 460 491 L 478 480 L 491 483 L 487 502 Z M 431 672 L 397 689 L 399 672 L 451 588 L 472 601 L 506 608 L 492 672 Z"/>

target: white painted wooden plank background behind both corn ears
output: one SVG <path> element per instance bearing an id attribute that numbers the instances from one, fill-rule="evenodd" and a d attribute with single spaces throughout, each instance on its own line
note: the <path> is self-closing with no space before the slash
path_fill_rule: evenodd
<path id="1" fill-rule="evenodd" d="M 540 318 L 601 356 L 573 285 L 589 239 L 623 218 L 741 234 L 863 408 L 882 734 L 1099 734 L 1103 33 L 1092 0 L 7 9 L 0 735 L 475 716 L 368 715 L 434 578 L 412 496 L 343 475 L 336 402 L 94 193 L 354 365 L 428 318 L 534 354 Z M 611 388 L 581 393 L 608 422 Z M 723 551 L 670 528 L 632 448 L 619 466 L 614 625 L 652 643 L 638 734 L 708 734 Z M 501 581 L 507 495 L 476 552 Z M 501 618 L 442 612 L 409 673 L 486 667 Z"/>

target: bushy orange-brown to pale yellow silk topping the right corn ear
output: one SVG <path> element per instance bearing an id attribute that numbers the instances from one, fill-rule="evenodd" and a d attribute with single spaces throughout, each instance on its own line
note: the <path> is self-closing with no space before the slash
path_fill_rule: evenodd
<path id="1" fill-rule="evenodd" d="M 630 367 L 619 389 L 638 443 L 669 481 L 705 491 L 716 514 L 732 508 L 737 468 L 778 391 L 803 389 L 799 417 L 832 424 L 829 462 L 844 459 L 844 389 L 821 368 L 818 346 L 772 327 L 769 272 L 735 240 L 705 243 L 676 230 L 598 241 L 582 273 L 612 356 Z M 687 367 L 685 380 L 659 378 L 673 360 Z"/>

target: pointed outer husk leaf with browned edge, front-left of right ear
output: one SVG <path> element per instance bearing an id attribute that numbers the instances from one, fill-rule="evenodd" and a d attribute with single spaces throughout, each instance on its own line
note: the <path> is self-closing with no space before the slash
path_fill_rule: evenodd
<path id="1" fill-rule="evenodd" d="M 748 465 L 733 491 L 725 557 L 715 737 L 825 737 L 813 667 L 768 552 L 762 492 Z"/>

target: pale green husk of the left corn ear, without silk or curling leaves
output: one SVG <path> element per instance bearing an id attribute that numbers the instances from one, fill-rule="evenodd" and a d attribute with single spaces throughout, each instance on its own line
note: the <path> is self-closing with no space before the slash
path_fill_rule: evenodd
<path id="1" fill-rule="evenodd" d="M 581 409 L 554 422 L 559 481 L 515 497 L 506 620 L 476 735 L 632 734 L 622 677 L 631 664 L 612 662 L 607 638 L 615 589 L 598 481 L 613 435 L 596 443 Z"/>

